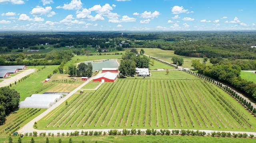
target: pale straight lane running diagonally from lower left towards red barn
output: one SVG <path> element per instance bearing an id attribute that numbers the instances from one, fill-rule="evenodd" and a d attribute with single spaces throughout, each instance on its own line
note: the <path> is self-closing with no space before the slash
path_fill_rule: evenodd
<path id="1" fill-rule="evenodd" d="M 43 130 L 37 130 L 33 128 L 33 125 L 36 121 L 39 121 L 40 119 L 42 119 L 44 116 L 46 116 L 48 113 L 50 113 L 52 110 L 54 110 L 55 108 L 57 108 L 58 106 L 60 106 L 60 104 L 62 104 L 63 102 L 65 102 L 70 96 L 72 96 L 73 94 L 76 93 L 76 91 L 80 90 L 82 87 L 84 87 L 86 84 L 88 84 L 90 81 L 92 81 L 92 79 L 95 76 L 92 76 L 91 78 L 89 78 L 89 80 L 87 80 L 86 82 L 84 82 L 83 84 L 81 84 L 80 86 L 78 86 L 76 89 L 74 89 L 72 92 L 70 92 L 68 95 L 66 95 L 64 98 L 62 98 L 61 100 L 59 100 L 58 102 L 56 102 L 56 104 L 54 104 L 52 107 L 48 108 L 45 112 L 43 112 L 42 114 L 38 115 L 36 118 L 32 119 L 30 122 L 28 122 L 26 125 L 24 125 L 23 127 L 21 127 L 18 132 L 19 133 L 30 133 L 33 131 L 38 131 L 39 132 L 45 132 Z M 50 130 L 49 130 L 50 131 Z M 53 131 L 52 131 L 53 132 Z"/>

